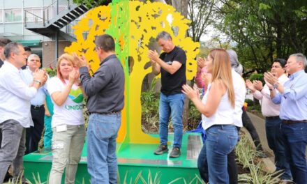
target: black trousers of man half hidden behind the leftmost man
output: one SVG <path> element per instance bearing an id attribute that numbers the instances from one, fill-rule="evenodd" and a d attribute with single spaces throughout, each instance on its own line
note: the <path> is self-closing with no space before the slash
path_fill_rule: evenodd
<path id="1" fill-rule="evenodd" d="M 26 128 L 26 154 L 38 150 L 38 142 L 40 141 L 40 137 L 42 137 L 44 128 L 44 115 L 45 108 L 43 105 L 39 108 L 31 106 L 31 116 L 34 127 Z"/>

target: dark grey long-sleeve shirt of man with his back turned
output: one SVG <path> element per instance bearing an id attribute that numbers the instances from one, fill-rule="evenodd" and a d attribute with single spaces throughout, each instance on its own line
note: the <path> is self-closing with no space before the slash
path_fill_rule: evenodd
<path id="1" fill-rule="evenodd" d="M 89 112 L 109 113 L 123 109 L 125 78 L 123 67 L 115 54 L 101 61 L 92 77 L 87 67 L 80 67 L 79 70 L 82 87 L 89 97 Z"/>

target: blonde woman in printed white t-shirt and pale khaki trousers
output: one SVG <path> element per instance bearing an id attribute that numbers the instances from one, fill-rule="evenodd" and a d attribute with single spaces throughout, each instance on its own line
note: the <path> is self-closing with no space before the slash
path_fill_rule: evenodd
<path id="1" fill-rule="evenodd" d="M 73 56 L 62 54 L 57 63 L 57 77 L 47 87 L 54 102 L 52 117 L 52 169 L 49 183 L 61 183 L 66 168 L 65 183 L 75 183 L 77 165 L 81 158 L 85 128 L 83 97 L 79 72 Z"/>

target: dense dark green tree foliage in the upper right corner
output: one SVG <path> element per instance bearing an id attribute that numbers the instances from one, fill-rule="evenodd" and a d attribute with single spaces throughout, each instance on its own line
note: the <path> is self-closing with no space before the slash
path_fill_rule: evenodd
<path id="1" fill-rule="evenodd" d="M 215 27 L 236 45 L 246 68 L 264 72 L 274 58 L 307 54 L 307 6 L 292 0 L 220 0 Z"/>

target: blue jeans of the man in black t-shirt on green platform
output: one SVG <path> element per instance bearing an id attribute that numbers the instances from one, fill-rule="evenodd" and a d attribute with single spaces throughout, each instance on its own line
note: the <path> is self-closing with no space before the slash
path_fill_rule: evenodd
<path id="1" fill-rule="evenodd" d="M 172 115 L 174 126 L 174 147 L 181 148 L 182 141 L 182 112 L 184 111 L 184 100 L 186 95 L 183 93 L 174 95 L 164 95 L 160 93 L 159 105 L 159 135 L 160 144 L 167 145 L 168 123 Z"/>

